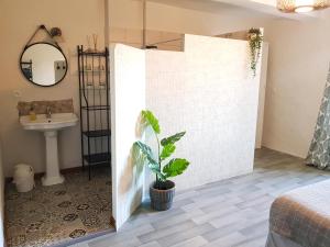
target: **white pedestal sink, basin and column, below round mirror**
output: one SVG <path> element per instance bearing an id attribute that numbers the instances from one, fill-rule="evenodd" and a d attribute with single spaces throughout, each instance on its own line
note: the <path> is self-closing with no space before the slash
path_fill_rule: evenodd
<path id="1" fill-rule="evenodd" d="M 64 177 L 59 172 L 57 132 L 65 127 L 76 125 L 78 117 L 74 113 L 55 113 L 51 119 L 45 114 L 36 115 L 35 121 L 30 116 L 21 116 L 20 123 L 24 130 L 41 131 L 46 139 L 46 173 L 42 178 L 43 186 L 53 186 L 64 182 Z"/>

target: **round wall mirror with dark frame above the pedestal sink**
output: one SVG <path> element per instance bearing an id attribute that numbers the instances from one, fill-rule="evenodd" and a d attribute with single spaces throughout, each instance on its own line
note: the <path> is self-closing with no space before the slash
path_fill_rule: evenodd
<path id="1" fill-rule="evenodd" d="M 67 72 L 65 55 L 50 43 L 34 43 L 25 47 L 20 66 L 28 80 L 43 87 L 58 83 Z"/>

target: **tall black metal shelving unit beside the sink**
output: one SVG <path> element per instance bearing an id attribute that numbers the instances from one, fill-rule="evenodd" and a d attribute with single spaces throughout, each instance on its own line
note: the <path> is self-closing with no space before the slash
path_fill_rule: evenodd
<path id="1" fill-rule="evenodd" d="M 110 154 L 110 85 L 109 50 L 84 50 L 77 47 L 80 99 L 81 162 L 91 167 L 109 166 Z"/>

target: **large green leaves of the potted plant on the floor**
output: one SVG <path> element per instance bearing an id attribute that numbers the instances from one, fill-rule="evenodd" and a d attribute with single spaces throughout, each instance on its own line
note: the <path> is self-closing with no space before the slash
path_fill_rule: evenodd
<path id="1" fill-rule="evenodd" d="M 182 175 L 189 166 L 188 160 L 183 158 L 173 158 L 164 167 L 162 162 L 175 153 L 176 146 L 174 144 L 184 137 L 186 132 L 179 132 L 175 135 L 163 138 L 160 142 L 158 134 L 161 134 L 161 127 L 158 120 L 151 111 L 147 110 L 142 111 L 141 115 L 145 125 L 153 130 L 157 141 L 158 150 L 156 153 L 157 155 L 154 155 L 154 151 L 150 146 L 142 142 L 135 142 L 134 149 L 140 151 L 139 160 L 143 160 L 143 162 L 146 164 L 147 167 L 156 175 L 157 184 L 166 181 L 168 178 Z"/>

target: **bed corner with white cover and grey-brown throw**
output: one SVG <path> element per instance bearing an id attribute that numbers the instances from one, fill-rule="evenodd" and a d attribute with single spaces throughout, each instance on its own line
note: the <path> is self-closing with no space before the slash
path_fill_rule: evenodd
<path id="1" fill-rule="evenodd" d="M 330 247 L 330 179 L 274 201 L 266 247 Z"/>

